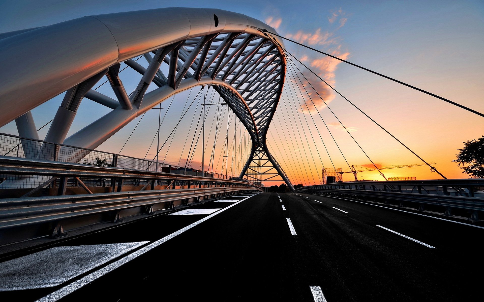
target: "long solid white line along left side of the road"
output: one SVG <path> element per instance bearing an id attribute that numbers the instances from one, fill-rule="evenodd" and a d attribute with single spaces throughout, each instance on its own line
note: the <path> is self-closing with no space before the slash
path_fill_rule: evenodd
<path id="1" fill-rule="evenodd" d="M 254 194 L 254 195 L 257 195 L 257 194 Z M 252 196 L 254 196 L 254 195 L 252 195 Z M 37 300 L 37 302 L 43 302 L 43 301 L 45 301 L 45 302 L 47 302 L 47 301 L 48 302 L 54 302 L 54 301 L 58 301 L 61 298 L 67 296 L 70 293 L 72 293 L 76 289 L 82 288 L 83 286 L 91 283 L 92 281 L 96 280 L 97 278 L 99 278 L 101 276 L 104 276 L 106 273 L 109 273 L 109 272 L 117 269 L 118 267 L 120 267 L 124 263 L 129 262 L 129 261 L 135 259 L 136 257 L 143 255 L 144 253 L 146 253 L 149 250 L 157 247 L 158 245 L 165 243 L 166 241 L 170 240 L 171 238 L 173 238 L 173 237 L 175 237 L 177 235 L 180 235 L 181 233 L 183 233 L 186 230 L 190 230 L 191 228 L 199 225 L 200 223 L 204 222 L 205 220 L 208 220 L 208 219 L 212 218 L 213 216 L 218 215 L 218 214 L 224 212 L 225 210 L 230 209 L 231 207 L 233 207 L 233 206 L 241 203 L 242 201 L 244 201 L 246 199 L 251 198 L 252 196 L 249 196 L 249 197 L 246 197 L 244 199 L 241 199 L 240 201 L 238 201 L 236 203 L 233 203 L 233 204 L 229 205 L 226 208 L 223 208 L 222 210 L 220 210 L 218 212 L 215 212 L 215 213 L 213 213 L 213 214 L 211 214 L 209 216 L 203 217 L 202 219 L 200 219 L 200 220 L 192 223 L 191 225 L 188 225 L 188 226 L 184 227 L 183 229 L 177 230 L 176 232 L 171 233 L 168 236 L 165 236 L 165 237 L 163 237 L 163 238 L 161 238 L 161 239 L 159 239 L 157 241 L 154 241 L 153 243 L 148 244 L 145 247 L 140 248 L 139 250 L 135 251 L 134 253 L 131 253 L 129 255 L 126 255 L 123 258 L 121 258 L 119 260 L 116 260 L 113 263 L 108 264 L 105 267 L 100 268 L 99 270 L 97 270 L 95 272 L 92 272 L 92 273 L 90 273 L 90 274 L 88 274 L 88 275 L 80 278 L 79 280 L 76 280 L 73 283 L 66 285 L 63 288 L 58 289 L 58 290 L 56 290 L 56 291 L 48 294 L 45 297 L 40 298 L 39 300 Z"/>

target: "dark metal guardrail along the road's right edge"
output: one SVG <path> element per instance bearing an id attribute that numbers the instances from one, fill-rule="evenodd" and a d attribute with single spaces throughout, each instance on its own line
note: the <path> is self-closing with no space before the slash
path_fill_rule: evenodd
<path id="1" fill-rule="evenodd" d="M 478 212 L 484 211 L 484 192 L 475 192 L 475 187 L 484 187 L 484 179 L 345 182 L 307 186 L 295 192 L 400 201 L 400 206 L 414 202 L 420 209 L 423 204 L 436 205 L 444 207 L 446 215 L 452 215 L 452 209 L 465 209 L 471 211 L 472 220 L 478 220 Z"/>

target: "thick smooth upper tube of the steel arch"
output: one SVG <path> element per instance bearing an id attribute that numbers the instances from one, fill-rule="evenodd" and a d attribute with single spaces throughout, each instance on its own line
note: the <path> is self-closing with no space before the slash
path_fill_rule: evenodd
<path id="1" fill-rule="evenodd" d="M 0 65 L 8 72 L 0 73 L 0 127 L 130 58 L 213 33 L 264 37 L 262 28 L 274 30 L 244 14 L 171 7 L 86 16 L 1 39 Z M 35 60 L 27 59 L 32 49 Z"/>

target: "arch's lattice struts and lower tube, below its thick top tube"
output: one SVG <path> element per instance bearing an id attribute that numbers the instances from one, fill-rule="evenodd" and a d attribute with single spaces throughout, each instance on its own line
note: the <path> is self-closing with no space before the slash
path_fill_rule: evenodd
<path id="1" fill-rule="evenodd" d="M 124 61 L 129 68 L 141 74 L 139 84 L 130 95 L 120 79 L 120 63 L 69 89 L 45 141 L 96 148 L 136 116 L 174 93 L 207 84 L 228 103 L 251 136 L 252 153 L 240 177 L 262 182 L 280 175 L 292 187 L 265 144 L 286 71 L 284 55 L 272 40 L 242 32 L 222 32 L 172 43 L 145 53 L 143 57 L 149 63 L 147 68 L 134 58 Z M 104 75 L 117 100 L 92 89 Z M 158 88 L 147 92 L 150 85 Z M 170 89 L 167 90 L 167 87 Z M 66 139 L 82 98 L 105 105 L 113 112 Z M 22 119 L 29 118 L 30 113 L 17 118 L 20 135 L 28 132 Z M 84 155 L 77 154 L 71 161 L 76 162 Z"/>

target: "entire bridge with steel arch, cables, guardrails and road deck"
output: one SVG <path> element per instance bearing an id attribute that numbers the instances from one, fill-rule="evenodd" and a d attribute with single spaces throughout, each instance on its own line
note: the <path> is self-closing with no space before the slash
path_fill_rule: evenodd
<path id="1" fill-rule="evenodd" d="M 96 301 L 154 295 L 167 301 L 329 302 L 479 297 L 474 273 L 480 266 L 474 262 L 484 229 L 484 180 L 446 179 L 331 83 L 309 67 L 302 72 L 304 60 L 287 51 L 285 42 L 297 43 L 249 16 L 200 8 L 93 15 L 0 34 L 0 127 L 15 121 L 18 133 L 0 133 L 0 297 L 84 301 L 96 293 Z M 35 63 L 27 59 L 32 49 Z M 387 181 L 306 78 L 308 72 L 440 179 Z M 186 95 L 180 116 L 168 114 L 174 100 Z M 331 134 L 316 95 L 385 180 L 343 182 L 340 173 L 339 182 L 327 183 L 319 172 L 311 180 L 309 169 L 291 164 L 286 150 L 277 150 L 286 157 L 276 160 L 269 128 L 290 127 L 293 133 L 283 137 L 299 136 L 301 144 L 286 139 L 287 146 L 310 150 L 320 138 L 326 166 L 336 170 L 313 116 Z M 281 104 L 283 96 L 306 101 Z M 54 101 L 60 103 L 57 112 L 37 129 L 32 111 Z M 104 114 L 73 133 L 81 104 Z M 276 111 L 283 109 L 286 128 L 280 120 L 274 124 Z M 126 155 L 122 149 L 151 110 L 158 116 L 153 158 Z M 173 122 L 166 126 L 170 115 Z M 121 151 L 104 151 L 128 125 L 135 128 Z M 184 126 L 186 138 L 176 134 Z M 178 163 L 161 153 L 174 138 L 184 139 L 181 151 L 172 151 L 181 153 Z M 324 165 L 319 151 L 303 153 L 308 167 L 319 169 L 318 160 Z M 270 192 L 271 182 L 285 189 Z M 304 186 L 295 189 L 298 183 Z"/>

